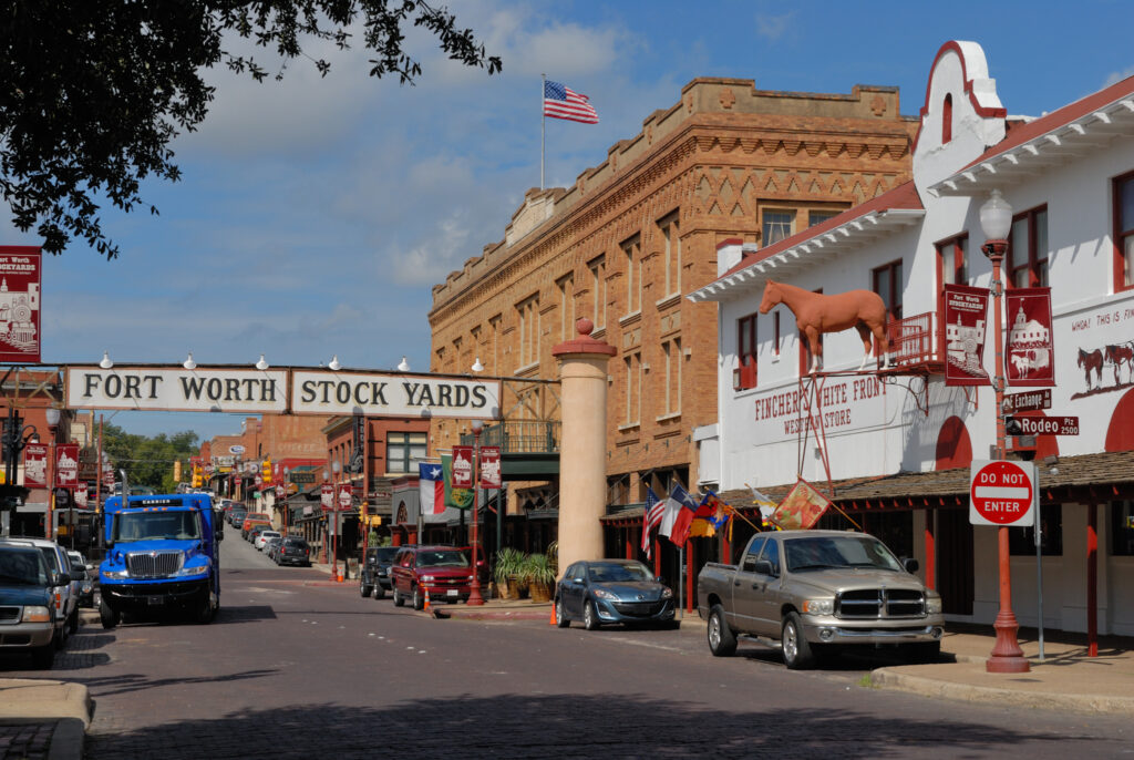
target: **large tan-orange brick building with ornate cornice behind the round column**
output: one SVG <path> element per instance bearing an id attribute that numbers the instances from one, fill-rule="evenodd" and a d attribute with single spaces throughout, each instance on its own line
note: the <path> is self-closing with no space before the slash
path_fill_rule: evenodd
<path id="1" fill-rule="evenodd" d="M 503 239 L 433 288 L 431 370 L 467 373 L 480 360 L 485 374 L 506 378 L 502 439 L 508 425 L 556 419 L 555 387 L 536 396 L 524 382 L 556 378 L 551 347 L 574 335 L 576 319 L 591 319 L 593 336 L 618 349 L 608 554 L 636 551 L 641 518 L 617 512 L 641 504 L 646 484 L 658 493 L 674 481 L 697 485 L 693 431 L 717 421 L 717 315 L 683 294 L 716 279 L 718 245 L 775 244 L 909 178 L 916 120 L 900 116 L 896 88 L 753 85 L 694 79 L 572 187 L 528 191 Z M 435 420 L 432 449 L 460 442 L 467 427 Z M 509 478 L 507 453 L 508 514 L 557 508 L 555 479 Z"/>

